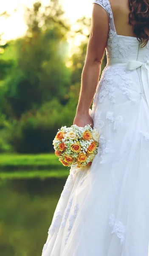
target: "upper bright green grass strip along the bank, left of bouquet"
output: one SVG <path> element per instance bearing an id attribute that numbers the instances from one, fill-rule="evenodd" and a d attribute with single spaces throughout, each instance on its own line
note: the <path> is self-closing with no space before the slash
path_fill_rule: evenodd
<path id="1" fill-rule="evenodd" d="M 0 154 L 0 171 L 63 169 L 55 154 Z"/>

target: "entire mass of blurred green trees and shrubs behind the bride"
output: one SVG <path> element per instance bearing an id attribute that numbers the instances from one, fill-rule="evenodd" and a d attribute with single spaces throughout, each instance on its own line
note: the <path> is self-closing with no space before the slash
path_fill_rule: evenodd
<path id="1" fill-rule="evenodd" d="M 0 46 L 0 152 L 51 152 L 58 129 L 73 124 L 91 20 L 72 31 L 59 0 L 34 3 L 25 20 L 24 37 Z M 84 40 L 69 57 L 76 35 Z"/>

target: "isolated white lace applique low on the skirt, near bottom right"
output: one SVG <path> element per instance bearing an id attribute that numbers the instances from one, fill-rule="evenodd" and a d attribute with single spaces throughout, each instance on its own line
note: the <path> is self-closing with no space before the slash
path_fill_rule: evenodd
<path id="1" fill-rule="evenodd" d="M 110 227 L 112 227 L 111 233 L 115 233 L 118 238 L 121 239 L 121 244 L 123 244 L 125 241 L 126 227 L 121 221 L 115 221 L 115 217 L 113 214 L 110 215 L 109 225 Z"/>

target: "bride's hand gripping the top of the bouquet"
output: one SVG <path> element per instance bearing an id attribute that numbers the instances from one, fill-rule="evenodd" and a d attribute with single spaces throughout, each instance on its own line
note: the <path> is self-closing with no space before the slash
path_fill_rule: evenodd
<path id="1" fill-rule="evenodd" d="M 76 113 L 75 119 L 73 121 L 73 125 L 77 125 L 79 127 L 84 127 L 85 125 L 90 125 L 93 128 L 93 119 L 89 113 Z"/>

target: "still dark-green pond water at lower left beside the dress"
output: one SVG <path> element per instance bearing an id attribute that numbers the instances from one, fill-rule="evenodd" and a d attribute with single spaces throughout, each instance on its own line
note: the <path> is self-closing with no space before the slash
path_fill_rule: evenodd
<path id="1" fill-rule="evenodd" d="M 41 256 L 65 182 L 0 180 L 0 256 Z"/>

